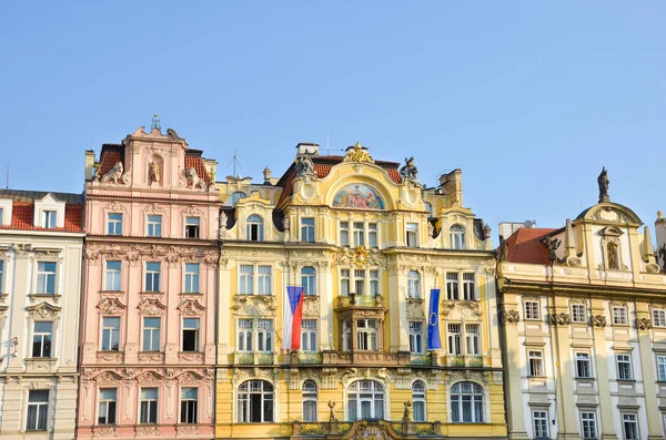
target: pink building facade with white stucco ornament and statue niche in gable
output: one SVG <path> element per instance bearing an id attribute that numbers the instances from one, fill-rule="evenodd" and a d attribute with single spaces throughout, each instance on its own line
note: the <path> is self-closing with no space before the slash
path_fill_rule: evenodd
<path id="1" fill-rule="evenodd" d="M 85 157 L 80 439 L 214 436 L 216 163 L 155 125 Z"/>

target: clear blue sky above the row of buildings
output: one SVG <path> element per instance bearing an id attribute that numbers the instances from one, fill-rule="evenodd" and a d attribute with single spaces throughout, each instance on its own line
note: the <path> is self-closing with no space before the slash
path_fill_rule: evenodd
<path id="1" fill-rule="evenodd" d="M 0 182 L 82 191 L 84 150 L 154 112 L 232 174 L 299 142 L 463 170 L 464 204 L 564 225 L 666 211 L 665 1 L 2 1 Z M 495 236 L 496 239 L 496 236 Z"/>

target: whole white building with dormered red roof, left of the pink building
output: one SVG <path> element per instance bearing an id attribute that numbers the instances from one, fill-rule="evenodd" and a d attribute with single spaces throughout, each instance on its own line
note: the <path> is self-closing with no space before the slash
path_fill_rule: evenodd
<path id="1" fill-rule="evenodd" d="M 0 439 L 74 438 L 81 211 L 81 195 L 0 191 Z"/>

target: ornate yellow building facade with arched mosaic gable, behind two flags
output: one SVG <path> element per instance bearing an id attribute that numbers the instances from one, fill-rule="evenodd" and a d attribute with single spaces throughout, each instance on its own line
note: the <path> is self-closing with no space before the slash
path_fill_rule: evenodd
<path id="1" fill-rule="evenodd" d="M 413 160 L 296 149 L 280 178 L 219 183 L 216 438 L 506 438 L 496 260 L 461 171 L 425 187 Z"/>

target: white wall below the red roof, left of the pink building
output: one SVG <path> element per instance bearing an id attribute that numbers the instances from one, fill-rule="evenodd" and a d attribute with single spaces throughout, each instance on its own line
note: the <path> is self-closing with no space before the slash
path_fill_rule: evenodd
<path id="1" fill-rule="evenodd" d="M 83 234 L 0 229 L 0 439 L 73 439 Z M 57 264 L 54 295 L 36 294 L 39 262 Z M 34 323 L 52 321 L 51 356 L 34 358 Z M 48 390 L 46 431 L 28 431 L 31 390 Z"/>

